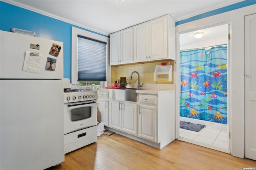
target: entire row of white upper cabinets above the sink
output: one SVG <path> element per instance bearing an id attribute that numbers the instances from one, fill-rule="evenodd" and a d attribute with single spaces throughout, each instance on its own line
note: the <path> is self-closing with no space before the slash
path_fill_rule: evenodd
<path id="1" fill-rule="evenodd" d="M 175 21 L 170 15 L 138 24 L 110 34 L 110 65 L 175 60 L 175 42 Z"/>

